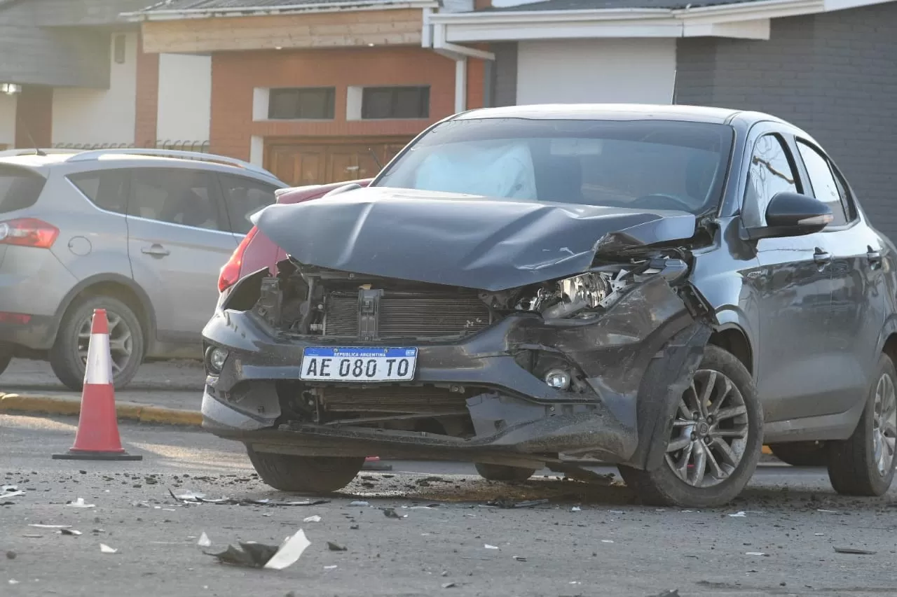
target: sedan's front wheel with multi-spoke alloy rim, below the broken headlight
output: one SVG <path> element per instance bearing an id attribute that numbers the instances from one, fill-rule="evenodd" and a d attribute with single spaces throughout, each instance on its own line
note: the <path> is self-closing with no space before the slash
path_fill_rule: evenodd
<path id="1" fill-rule="evenodd" d="M 707 346 L 679 400 L 665 462 L 653 471 L 621 466 L 620 474 L 646 504 L 724 506 L 753 476 L 762 425 L 751 374 L 727 350 Z"/>

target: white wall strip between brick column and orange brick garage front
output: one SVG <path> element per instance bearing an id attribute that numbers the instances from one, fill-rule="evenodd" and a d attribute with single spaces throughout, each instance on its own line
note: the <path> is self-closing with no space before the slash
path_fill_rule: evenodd
<path id="1" fill-rule="evenodd" d="M 212 56 L 159 55 L 159 112 L 162 141 L 208 141 L 212 118 Z"/>

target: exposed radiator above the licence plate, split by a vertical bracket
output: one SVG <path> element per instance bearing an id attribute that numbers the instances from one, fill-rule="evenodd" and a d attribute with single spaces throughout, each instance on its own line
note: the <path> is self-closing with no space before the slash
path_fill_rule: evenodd
<path id="1" fill-rule="evenodd" d="M 327 301 L 324 335 L 358 336 L 358 296 L 333 294 Z M 379 337 L 438 337 L 473 333 L 490 324 L 482 300 L 454 295 L 402 295 L 380 299 Z"/>

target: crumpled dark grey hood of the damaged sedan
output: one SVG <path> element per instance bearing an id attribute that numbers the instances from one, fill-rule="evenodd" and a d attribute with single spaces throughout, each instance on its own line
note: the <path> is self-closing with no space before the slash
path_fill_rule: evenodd
<path id="1" fill-rule="evenodd" d="M 583 272 L 598 251 L 695 231 L 688 212 L 384 187 L 277 203 L 252 220 L 302 264 L 491 291 Z"/>

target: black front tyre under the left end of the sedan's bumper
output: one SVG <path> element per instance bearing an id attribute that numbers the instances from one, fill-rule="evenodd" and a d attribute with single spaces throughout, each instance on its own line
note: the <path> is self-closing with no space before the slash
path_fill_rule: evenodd
<path id="1" fill-rule="evenodd" d="M 364 456 L 297 456 L 256 452 L 246 446 L 258 476 L 274 489 L 294 493 L 331 493 L 352 482 Z"/>

